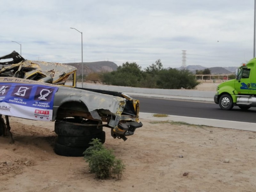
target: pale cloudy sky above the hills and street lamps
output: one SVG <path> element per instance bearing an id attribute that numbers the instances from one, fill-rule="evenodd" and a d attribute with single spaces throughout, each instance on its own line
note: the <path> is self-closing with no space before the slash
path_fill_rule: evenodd
<path id="1" fill-rule="evenodd" d="M 0 56 L 20 53 L 21 44 L 28 60 L 81 62 L 83 47 L 83 62 L 142 69 L 159 59 L 178 68 L 182 56 L 186 66 L 207 68 L 253 58 L 253 0 L 1 0 L 0 7 Z"/>

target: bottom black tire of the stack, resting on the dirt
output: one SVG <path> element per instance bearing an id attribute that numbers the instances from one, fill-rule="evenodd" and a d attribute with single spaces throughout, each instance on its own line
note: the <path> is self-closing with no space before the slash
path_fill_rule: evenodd
<path id="1" fill-rule="evenodd" d="M 82 157 L 83 153 L 88 147 L 76 148 L 69 147 L 65 145 L 61 145 L 59 143 L 55 143 L 54 152 L 60 156 L 68 156 L 68 157 Z"/>

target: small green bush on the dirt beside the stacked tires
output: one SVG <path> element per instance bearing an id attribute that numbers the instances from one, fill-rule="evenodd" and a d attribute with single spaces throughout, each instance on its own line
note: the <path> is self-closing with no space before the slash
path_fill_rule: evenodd
<path id="1" fill-rule="evenodd" d="M 90 172 L 98 179 L 107 179 L 111 176 L 121 179 L 125 165 L 122 160 L 116 159 L 113 150 L 106 149 L 99 139 L 92 139 L 92 146 L 84 151 L 84 158 L 89 163 Z"/>

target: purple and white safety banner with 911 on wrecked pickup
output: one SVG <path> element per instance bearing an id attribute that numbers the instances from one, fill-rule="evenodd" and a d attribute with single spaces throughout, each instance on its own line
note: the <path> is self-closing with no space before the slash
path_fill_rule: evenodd
<path id="1" fill-rule="evenodd" d="M 51 121 L 57 90 L 44 84 L 0 83 L 0 114 Z"/>

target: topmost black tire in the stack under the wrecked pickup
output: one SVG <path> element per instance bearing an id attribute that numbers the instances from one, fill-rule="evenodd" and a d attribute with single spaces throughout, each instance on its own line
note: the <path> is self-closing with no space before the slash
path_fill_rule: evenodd
<path id="1" fill-rule="evenodd" d="M 87 120 L 79 118 L 66 118 L 62 120 L 56 120 L 54 131 L 61 136 L 79 137 L 86 135 L 94 135 L 101 133 L 102 126 L 98 125 L 98 121 Z"/>

